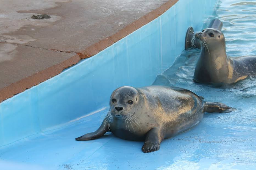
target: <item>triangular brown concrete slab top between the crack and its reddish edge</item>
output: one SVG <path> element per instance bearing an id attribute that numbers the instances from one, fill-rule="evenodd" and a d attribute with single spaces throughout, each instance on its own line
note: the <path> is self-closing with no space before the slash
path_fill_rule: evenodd
<path id="1" fill-rule="evenodd" d="M 7 51 L 4 49 L 2 52 L 2 49 L 6 46 L 9 50 Z M 11 51 L 12 49 L 14 50 Z M 0 89 L 3 89 L 14 82 L 18 82 L 23 77 L 32 76 L 35 73 L 45 70 L 45 65 L 52 67 L 74 56 L 74 53 L 60 53 L 16 44 L 0 43 L 0 50 L 2 53 L 6 53 L 3 58 L 4 60 L 2 57 L 0 58 Z M 46 57 L 35 57 L 38 54 Z M 0 55 L 2 56 L 1 53 Z"/>

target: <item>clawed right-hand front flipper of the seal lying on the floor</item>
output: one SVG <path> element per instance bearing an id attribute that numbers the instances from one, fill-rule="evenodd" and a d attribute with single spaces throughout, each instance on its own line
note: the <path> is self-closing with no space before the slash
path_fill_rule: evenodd
<path id="1" fill-rule="evenodd" d="M 164 139 L 160 128 L 153 128 L 148 131 L 145 139 L 145 143 L 142 146 L 144 153 L 154 152 L 160 148 L 160 143 Z"/>

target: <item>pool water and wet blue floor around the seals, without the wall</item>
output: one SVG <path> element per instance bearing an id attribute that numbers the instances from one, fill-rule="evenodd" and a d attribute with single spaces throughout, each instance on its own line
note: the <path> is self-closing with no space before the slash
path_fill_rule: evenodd
<path id="1" fill-rule="evenodd" d="M 223 22 L 229 56 L 256 54 L 256 2 L 219 1 L 204 28 L 214 18 Z M 192 79 L 199 54 L 197 49 L 183 51 L 153 84 L 183 87 L 236 110 L 206 113 L 190 131 L 164 140 L 159 151 L 144 154 L 143 142 L 111 133 L 98 140 L 74 140 L 100 126 L 108 110 L 102 108 L 65 127 L 1 147 L 0 169 L 256 169 L 256 78 L 221 88 L 196 84 Z"/>

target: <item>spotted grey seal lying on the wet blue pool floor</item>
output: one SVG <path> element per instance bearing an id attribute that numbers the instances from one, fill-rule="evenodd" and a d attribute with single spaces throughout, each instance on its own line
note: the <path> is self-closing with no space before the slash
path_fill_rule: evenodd
<path id="1" fill-rule="evenodd" d="M 109 105 L 98 130 L 76 140 L 93 140 L 110 131 L 121 139 L 145 141 L 142 151 L 153 152 L 163 139 L 199 123 L 205 111 L 230 109 L 222 103 L 204 102 L 189 90 L 165 86 L 120 87 L 111 94 Z"/>

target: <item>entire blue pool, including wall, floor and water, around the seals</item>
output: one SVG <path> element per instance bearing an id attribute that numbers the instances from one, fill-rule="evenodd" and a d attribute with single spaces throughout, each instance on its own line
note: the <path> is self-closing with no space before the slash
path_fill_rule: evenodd
<path id="1" fill-rule="evenodd" d="M 222 88 L 195 84 L 200 51 L 182 51 L 188 26 L 199 31 L 218 18 L 227 54 L 255 55 L 255 3 L 216 2 L 180 0 L 101 53 L 2 102 L 1 169 L 255 169 L 256 79 Z M 199 12 L 196 7 L 205 8 Z M 236 110 L 205 114 L 196 127 L 164 140 L 159 151 L 149 154 L 141 152 L 143 142 L 111 133 L 98 140 L 74 140 L 98 128 L 116 86 L 152 83 L 187 88 Z"/>

